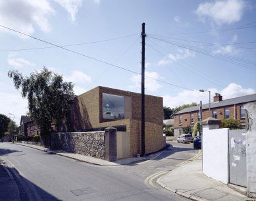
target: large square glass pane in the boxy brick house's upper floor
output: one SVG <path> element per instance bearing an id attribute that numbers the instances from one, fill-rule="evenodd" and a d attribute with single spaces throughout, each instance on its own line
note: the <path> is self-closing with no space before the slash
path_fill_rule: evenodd
<path id="1" fill-rule="evenodd" d="M 124 97 L 102 94 L 103 119 L 123 120 L 124 119 Z"/>

